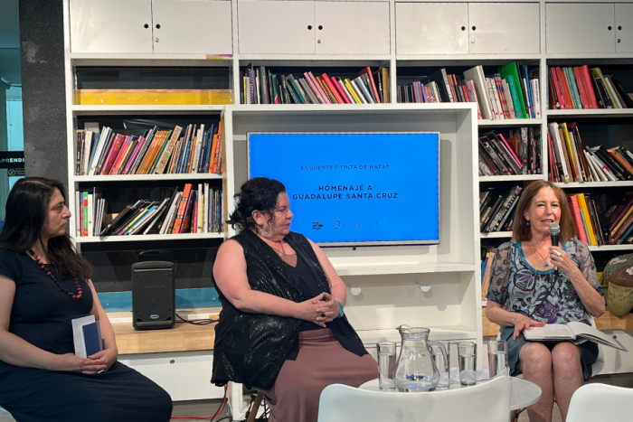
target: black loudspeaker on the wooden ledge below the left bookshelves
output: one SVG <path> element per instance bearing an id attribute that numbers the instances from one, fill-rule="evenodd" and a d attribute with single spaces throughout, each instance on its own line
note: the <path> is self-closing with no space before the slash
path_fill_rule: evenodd
<path id="1" fill-rule="evenodd" d="M 145 261 L 132 265 L 132 324 L 135 330 L 175 324 L 174 263 Z"/>

